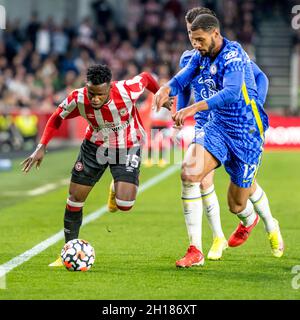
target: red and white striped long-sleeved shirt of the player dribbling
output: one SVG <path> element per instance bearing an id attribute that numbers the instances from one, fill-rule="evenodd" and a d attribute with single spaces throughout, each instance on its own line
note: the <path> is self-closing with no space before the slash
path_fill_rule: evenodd
<path id="1" fill-rule="evenodd" d="M 130 148 L 139 146 L 145 139 L 145 130 L 135 106 L 145 88 L 155 93 L 159 86 L 147 72 L 133 79 L 112 82 L 110 99 L 100 109 L 93 109 L 86 87 L 74 90 L 59 106 L 55 119 L 49 119 L 41 143 L 47 144 L 47 126 L 58 129 L 60 119 L 82 116 L 88 122 L 85 138 L 103 147 Z M 50 122 L 50 123 L 49 123 Z M 50 137 L 49 137 L 50 136 Z"/>

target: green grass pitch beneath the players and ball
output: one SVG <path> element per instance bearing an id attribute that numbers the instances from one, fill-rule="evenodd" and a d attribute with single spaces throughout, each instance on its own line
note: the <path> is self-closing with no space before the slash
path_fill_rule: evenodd
<path id="1" fill-rule="evenodd" d="M 63 227 L 67 185 L 42 195 L 27 191 L 68 178 L 78 149 L 49 152 L 39 171 L 25 175 L 15 161 L 11 172 L 0 172 L 0 265 L 34 247 Z M 85 225 L 80 237 L 91 242 L 96 262 L 88 272 L 49 268 L 63 240 L 10 271 L 0 300 L 21 299 L 290 299 L 300 298 L 300 153 L 267 152 L 258 174 L 273 215 L 285 240 L 280 259 L 271 255 L 262 221 L 241 247 L 229 248 L 221 261 L 203 267 L 176 269 L 175 260 L 188 246 L 180 200 L 179 170 L 138 196 L 130 213 L 105 213 Z M 141 168 L 141 184 L 165 169 Z M 84 215 L 106 204 L 107 171 L 85 204 Z M 228 175 L 216 172 L 215 187 L 226 237 L 238 219 L 226 204 Z M 212 234 L 203 217 L 203 248 L 207 254 Z M 299 267 L 300 268 L 300 267 Z M 298 274 L 299 276 L 299 274 Z M 294 280 L 293 280 L 294 278 Z M 3 281 L 3 279 L 2 279 Z M 293 282 L 294 281 L 294 282 Z"/>

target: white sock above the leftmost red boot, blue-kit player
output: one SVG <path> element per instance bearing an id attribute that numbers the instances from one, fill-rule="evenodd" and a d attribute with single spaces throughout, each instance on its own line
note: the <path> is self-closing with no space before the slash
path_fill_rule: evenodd
<path id="1" fill-rule="evenodd" d="M 200 183 L 182 182 L 182 204 L 190 245 L 202 252 L 202 199 Z"/>

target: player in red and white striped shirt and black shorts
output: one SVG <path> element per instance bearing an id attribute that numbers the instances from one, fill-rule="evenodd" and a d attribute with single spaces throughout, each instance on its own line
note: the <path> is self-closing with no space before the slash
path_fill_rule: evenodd
<path id="1" fill-rule="evenodd" d="M 62 121 L 78 116 L 87 120 L 86 135 L 72 170 L 65 209 L 66 242 L 78 238 L 84 202 L 108 166 L 114 182 L 109 211 L 128 211 L 135 202 L 141 145 L 145 138 L 135 102 L 145 88 L 156 93 L 159 86 L 147 72 L 131 80 L 112 82 L 111 78 L 107 66 L 89 67 L 85 87 L 74 90 L 58 106 L 48 120 L 36 150 L 22 162 L 24 172 L 29 172 L 34 164 L 38 168 L 47 144 Z M 61 265 L 61 260 L 52 265 Z"/>

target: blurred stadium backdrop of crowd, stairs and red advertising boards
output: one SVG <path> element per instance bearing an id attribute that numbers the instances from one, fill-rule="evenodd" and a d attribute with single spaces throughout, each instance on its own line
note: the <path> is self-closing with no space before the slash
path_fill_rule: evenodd
<path id="1" fill-rule="evenodd" d="M 108 64 L 114 79 L 128 79 L 142 70 L 169 79 L 178 70 L 181 53 L 190 48 L 184 14 L 197 5 L 216 11 L 223 34 L 240 41 L 270 79 L 267 147 L 300 147 L 300 31 L 291 26 L 296 1 L 0 4 L 7 11 L 7 26 L 0 33 L 0 151 L 7 152 L 6 158 L 10 151 L 33 147 L 32 140 L 37 141 L 55 107 L 84 84 L 92 63 Z M 149 126 L 149 108 L 143 110 Z M 58 144 L 80 141 L 84 124 L 74 122 L 64 125 Z"/>

